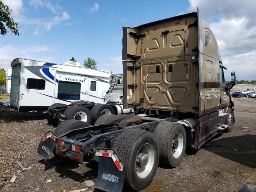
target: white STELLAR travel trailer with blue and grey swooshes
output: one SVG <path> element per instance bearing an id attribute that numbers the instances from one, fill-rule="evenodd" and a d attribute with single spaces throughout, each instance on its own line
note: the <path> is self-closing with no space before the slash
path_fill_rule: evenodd
<path id="1" fill-rule="evenodd" d="M 77 62 L 63 65 L 24 58 L 14 59 L 11 66 L 11 107 L 18 111 L 79 100 L 105 103 L 110 72 L 80 67 Z"/>

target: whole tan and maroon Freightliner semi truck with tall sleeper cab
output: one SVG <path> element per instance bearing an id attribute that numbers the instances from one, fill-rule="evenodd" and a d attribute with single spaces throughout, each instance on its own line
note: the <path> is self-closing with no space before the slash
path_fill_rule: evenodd
<path id="1" fill-rule="evenodd" d="M 77 120 L 47 132 L 38 154 L 79 163 L 98 161 L 95 188 L 142 190 L 158 163 L 178 166 L 185 150 L 198 150 L 230 132 L 234 103 L 216 38 L 200 12 L 137 27 L 123 27 L 123 105 L 133 114 L 100 116 L 94 126 Z M 171 178 L 170 178 L 171 179 Z"/>

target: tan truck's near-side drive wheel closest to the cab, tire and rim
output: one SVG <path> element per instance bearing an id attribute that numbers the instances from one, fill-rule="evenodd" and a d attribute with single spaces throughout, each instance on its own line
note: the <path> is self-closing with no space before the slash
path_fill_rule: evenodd
<path id="1" fill-rule="evenodd" d="M 175 122 L 159 122 L 154 136 L 159 144 L 160 163 L 177 167 L 186 150 L 186 131 L 183 125 Z"/>

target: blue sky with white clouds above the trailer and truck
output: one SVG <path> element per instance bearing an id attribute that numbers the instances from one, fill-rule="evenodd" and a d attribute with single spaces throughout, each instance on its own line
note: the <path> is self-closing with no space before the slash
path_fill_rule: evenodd
<path id="1" fill-rule="evenodd" d="M 2 1 L 12 8 L 21 35 L 0 36 L 1 68 L 10 68 L 10 61 L 17 57 L 64 64 L 73 56 L 81 65 L 91 57 L 97 61 L 98 69 L 119 73 L 122 72 L 122 26 L 138 26 L 196 11 L 199 7 L 202 18 L 218 40 L 228 73 L 239 70 L 238 79 L 256 79 L 256 66 L 252 62 L 256 59 L 256 49 L 248 43 L 256 42 L 254 28 L 249 25 L 256 6 L 249 0 L 164 0 L 141 5 L 132 0 Z M 232 34 L 228 35 L 227 30 Z M 242 40 L 234 42 L 239 35 L 241 38 L 241 33 Z M 250 70 L 241 67 L 241 62 Z"/>

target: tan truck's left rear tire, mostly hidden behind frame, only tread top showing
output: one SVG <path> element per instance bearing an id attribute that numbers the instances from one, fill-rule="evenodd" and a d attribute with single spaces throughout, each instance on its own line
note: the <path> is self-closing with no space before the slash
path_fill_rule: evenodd
<path id="1" fill-rule="evenodd" d="M 74 130 L 74 129 L 79 129 L 82 127 L 88 127 L 90 126 L 90 124 L 83 122 L 83 121 L 79 121 L 79 120 L 66 120 L 63 123 L 59 124 L 54 133 L 59 136 L 62 135 L 70 130 Z"/>

